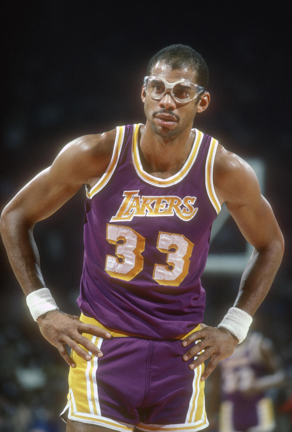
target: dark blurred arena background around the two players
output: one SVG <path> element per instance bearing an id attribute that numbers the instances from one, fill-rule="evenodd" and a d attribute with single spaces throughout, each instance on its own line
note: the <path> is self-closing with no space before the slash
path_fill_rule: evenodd
<path id="1" fill-rule="evenodd" d="M 286 240 L 282 266 L 255 322 L 273 340 L 286 373 L 285 384 L 273 392 L 280 432 L 292 430 L 291 9 L 290 3 L 247 7 L 225 1 L 0 5 L 1 210 L 67 142 L 144 122 L 141 86 L 159 49 L 183 43 L 205 58 L 211 104 L 194 125 L 257 166 Z M 47 286 L 72 314 L 79 314 L 83 195 L 81 190 L 34 230 Z M 210 325 L 233 304 L 249 253 L 234 222 L 223 219 L 203 277 Z M 62 432 L 58 414 L 66 402 L 67 365 L 27 311 L 2 243 L 0 251 L 0 431 Z M 231 256 L 237 264 L 225 268 Z M 207 380 L 207 410 L 208 386 Z"/>

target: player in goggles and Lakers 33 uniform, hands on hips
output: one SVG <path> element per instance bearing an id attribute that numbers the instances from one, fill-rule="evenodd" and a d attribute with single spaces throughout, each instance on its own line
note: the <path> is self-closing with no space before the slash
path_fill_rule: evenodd
<path id="1" fill-rule="evenodd" d="M 192 48 L 161 50 L 142 87 L 146 124 L 72 141 L 3 210 L 3 241 L 32 316 L 71 366 L 67 432 L 208 426 L 204 380 L 244 340 L 281 262 L 282 234 L 253 170 L 193 129 L 209 105 L 207 82 Z M 79 319 L 45 287 L 32 229 L 83 184 Z M 200 276 L 224 202 L 254 251 L 234 307 L 207 327 Z"/>

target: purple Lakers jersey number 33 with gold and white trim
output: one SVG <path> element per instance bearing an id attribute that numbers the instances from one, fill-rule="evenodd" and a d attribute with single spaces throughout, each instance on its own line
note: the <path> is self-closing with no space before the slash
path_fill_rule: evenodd
<path id="1" fill-rule="evenodd" d="M 143 170 L 139 127 L 117 127 L 109 167 L 87 190 L 77 304 L 120 333 L 175 338 L 203 320 L 200 276 L 220 211 L 212 182 L 218 143 L 195 130 L 180 172 L 160 179 Z"/>

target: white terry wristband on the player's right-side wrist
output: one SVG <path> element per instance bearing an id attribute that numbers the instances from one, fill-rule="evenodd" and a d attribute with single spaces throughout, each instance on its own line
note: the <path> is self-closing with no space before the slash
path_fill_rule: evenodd
<path id="1" fill-rule="evenodd" d="M 226 328 L 237 337 L 241 343 L 247 336 L 253 319 L 250 314 L 239 308 L 230 308 L 218 327 Z"/>

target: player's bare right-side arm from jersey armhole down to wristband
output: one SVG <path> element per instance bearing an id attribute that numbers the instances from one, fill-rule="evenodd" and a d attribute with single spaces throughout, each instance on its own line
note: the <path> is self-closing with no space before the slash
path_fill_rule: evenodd
<path id="1" fill-rule="evenodd" d="M 260 194 L 252 168 L 222 147 L 215 165 L 217 196 L 237 223 L 244 238 L 254 247 L 241 278 L 234 306 L 251 316 L 260 306 L 281 264 L 284 241 L 270 204 Z M 228 169 L 224 169 L 227 164 Z M 216 184 L 215 184 L 216 187 Z"/>

